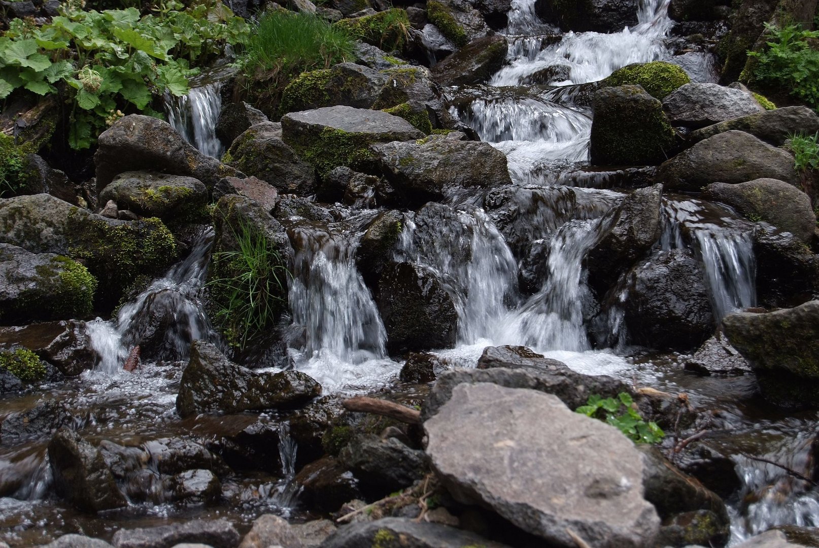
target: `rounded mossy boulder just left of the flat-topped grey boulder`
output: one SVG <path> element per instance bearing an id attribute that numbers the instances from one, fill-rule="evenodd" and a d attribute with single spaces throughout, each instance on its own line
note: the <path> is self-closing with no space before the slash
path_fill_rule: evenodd
<path id="1" fill-rule="evenodd" d="M 282 141 L 281 134 L 273 122 L 253 125 L 233 141 L 223 161 L 273 185 L 282 193 L 314 194 L 314 167 L 296 156 L 296 152 Z"/>

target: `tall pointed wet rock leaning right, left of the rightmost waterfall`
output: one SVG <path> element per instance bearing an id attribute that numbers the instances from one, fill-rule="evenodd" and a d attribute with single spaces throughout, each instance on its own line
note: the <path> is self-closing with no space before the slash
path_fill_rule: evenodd
<path id="1" fill-rule="evenodd" d="M 663 185 L 631 192 L 601 221 L 601 236 L 586 255 L 590 285 L 602 295 L 654 246 L 662 231 Z"/>

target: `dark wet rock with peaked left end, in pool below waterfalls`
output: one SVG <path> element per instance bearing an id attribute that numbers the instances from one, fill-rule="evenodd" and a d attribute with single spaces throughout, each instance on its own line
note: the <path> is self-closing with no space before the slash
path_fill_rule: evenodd
<path id="1" fill-rule="evenodd" d="M 176 408 L 182 417 L 215 411 L 286 409 L 320 393 L 319 383 L 306 374 L 257 373 L 232 364 L 214 345 L 195 341 L 191 360 L 182 374 Z"/>

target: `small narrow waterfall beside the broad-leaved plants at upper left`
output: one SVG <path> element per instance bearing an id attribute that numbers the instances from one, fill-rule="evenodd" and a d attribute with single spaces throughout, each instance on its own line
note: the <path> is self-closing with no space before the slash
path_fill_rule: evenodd
<path id="1" fill-rule="evenodd" d="M 221 158 L 224 145 L 216 137 L 216 122 L 222 111 L 221 82 L 192 88 L 187 95 L 165 93 L 168 122 L 202 154 Z"/>

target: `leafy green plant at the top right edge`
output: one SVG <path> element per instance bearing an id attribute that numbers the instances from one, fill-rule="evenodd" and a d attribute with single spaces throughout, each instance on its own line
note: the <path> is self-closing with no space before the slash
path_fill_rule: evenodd
<path id="1" fill-rule="evenodd" d="M 748 52 L 756 63 L 753 74 L 744 75 L 752 82 L 771 88 L 787 89 L 790 95 L 819 109 L 819 50 L 811 44 L 819 30 L 805 30 L 800 25 L 781 29 L 767 24 L 771 41 L 763 52 Z"/>

